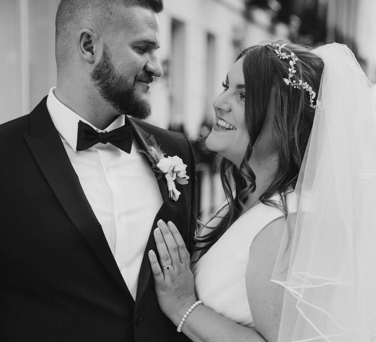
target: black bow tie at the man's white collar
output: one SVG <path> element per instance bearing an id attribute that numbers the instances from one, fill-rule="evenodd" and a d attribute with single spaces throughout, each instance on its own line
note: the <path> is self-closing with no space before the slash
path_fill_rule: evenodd
<path id="1" fill-rule="evenodd" d="M 109 132 L 97 132 L 93 127 L 82 121 L 78 122 L 77 151 L 91 148 L 96 143 L 110 143 L 124 152 L 131 153 L 133 127 L 121 126 Z"/>

